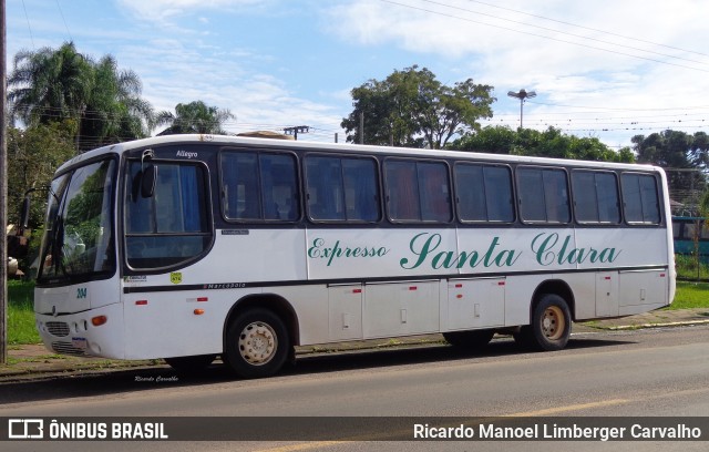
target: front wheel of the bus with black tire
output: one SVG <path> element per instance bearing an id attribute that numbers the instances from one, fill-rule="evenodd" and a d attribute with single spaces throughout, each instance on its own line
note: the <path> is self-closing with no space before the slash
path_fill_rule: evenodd
<path id="1" fill-rule="evenodd" d="M 266 309 L 249 309 L 228 326 L 223 358 L 240 378 L 278 372 L 288 358 L 290 340 L 285 323 Z"/>

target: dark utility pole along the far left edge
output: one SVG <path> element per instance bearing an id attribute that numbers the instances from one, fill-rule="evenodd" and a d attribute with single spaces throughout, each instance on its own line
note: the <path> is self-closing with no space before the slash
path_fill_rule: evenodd
<path id="1" fill-rule="evenodd" d="M 0 0 L 0 225 L 2 226 L 2 244 L 0 244 L 0 364 L 8 363 L 8 95 L 7 95 L 7 28 L 4 18 L 4 0 Z"/>

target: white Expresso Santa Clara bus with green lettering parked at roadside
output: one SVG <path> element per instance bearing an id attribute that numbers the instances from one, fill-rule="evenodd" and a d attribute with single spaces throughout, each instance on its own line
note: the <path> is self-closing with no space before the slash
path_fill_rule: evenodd
<path id="1" fill-rule="evenodd" d="M 645 165 L 172 135 L 62 165 L 45 228 L 49 349 L 220 356 L 244 378 L 371 338 L 557 350 L 572 321 L 675 292 L 667 183 Z"/>

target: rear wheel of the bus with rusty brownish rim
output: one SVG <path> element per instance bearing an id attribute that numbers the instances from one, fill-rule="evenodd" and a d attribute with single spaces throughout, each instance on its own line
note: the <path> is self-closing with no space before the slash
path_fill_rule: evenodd
<path id="1" fill-rule="evenodd" d="M 522 336 L 531 340 L 530 345 L 538 350 L 554 351 L 566 347 L 572 333 L 572 316 L 564 298 L 554 294 L 542 296 L 532 314 L 530 328 L 523 327 L 522 331 Z"/>

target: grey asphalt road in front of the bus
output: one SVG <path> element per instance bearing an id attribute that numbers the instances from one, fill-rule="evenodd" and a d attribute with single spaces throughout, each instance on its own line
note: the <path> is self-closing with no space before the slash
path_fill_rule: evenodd
<path id="1" fill-rule="evenodd" d="M 279 377 L 233 381 L 219 366 L 201 377 L 168 369 L 0 386 L 0 417 L 709 417 L 709 326 L 574 335 L 558 352 L 494 340 L 480 353 L 448 346 L 300 358 Z M 265 425 L 277 431 L 280 425 Z M 471 421 L 472 422 L 472 421 Z M 709 429 L 708 429 L 709 430 Z M 705 432 L 709 438 L 709 431 Z M 22 441 L 1 450 L 40 450 Z M 84 446 L 89 445 L 83 443 Z M 150 450 L 706 451 L 709 442 L 151 442 Z M 91 450 L 145 450 L 91 443 Z M 75 450 L 74 442 L 51 450 Z M 84 449 L 84 448 L 81 448 Z"/>

